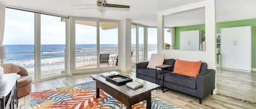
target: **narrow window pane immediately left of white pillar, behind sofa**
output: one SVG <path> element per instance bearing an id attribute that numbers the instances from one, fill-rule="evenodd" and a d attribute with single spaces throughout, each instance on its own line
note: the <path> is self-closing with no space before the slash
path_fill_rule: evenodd
<path id="1" fill-rule="evenodd" d="M 157 28 L 148 28 L 147 33 L 147 57 L 150 60 L 151 54 L 157 54 Z"/>

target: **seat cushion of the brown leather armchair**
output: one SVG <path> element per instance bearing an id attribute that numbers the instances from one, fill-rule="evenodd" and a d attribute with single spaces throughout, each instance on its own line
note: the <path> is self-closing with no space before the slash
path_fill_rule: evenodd
<path id="1" fill-rule="evenodd" d="M 17 80 L 17 88 L 26 87 L 32 83 L 32 78 L 30 76 L 21 76 Z"/>

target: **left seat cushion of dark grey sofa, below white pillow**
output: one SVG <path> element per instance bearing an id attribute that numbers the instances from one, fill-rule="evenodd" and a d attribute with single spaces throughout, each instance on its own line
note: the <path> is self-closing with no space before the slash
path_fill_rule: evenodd
<path id="1" fill-rule="evenodd" d="M 171 73 L 170 70 L 164 70 L 165 73 Z M 150 69 L 150 68 L 140 68 L 138 69 L 138 74 L 150 76 L 151 78 L 156 78 L 156 69 Z M 161 70 L 157 70 L 157 74 L 159 75 L 162 73 Z"/>

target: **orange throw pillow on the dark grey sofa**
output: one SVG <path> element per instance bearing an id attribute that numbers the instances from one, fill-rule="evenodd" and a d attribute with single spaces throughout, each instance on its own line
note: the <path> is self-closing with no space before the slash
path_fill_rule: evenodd
<path id="1" fill-rule="evenodd" d="M 191 62 L 177 59 L 175 62 L 174 73 L 197 78 L 201 63 L 202 61 Z"/>

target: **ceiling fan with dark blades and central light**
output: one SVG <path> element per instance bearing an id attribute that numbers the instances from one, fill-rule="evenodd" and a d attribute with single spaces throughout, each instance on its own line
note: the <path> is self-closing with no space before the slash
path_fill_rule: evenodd
<path id="1" fill-rule="evenodd" d="M 84 7 L 84 6 L 94 6 L 96 5 L 96 8 L 92 7 Z M 79 7 L 79 8 L 74 8 L 74 9 L 99 9 L 100 12 L 105 12 L 105 9 L 112 9 L 116 11 L 123 11 L 124 9 L 129 9 L 129 5 L 121 5 L 121 4 L 110 4 L 107 3 L 106 0 L 97 0 L 97 4 L 77 4 L 77 5 L 72 5 L 73 7 Z M 116 9 L 113 9 L 116 8 Z M 103 11 L 104 10 L 104 11 Z"/>

